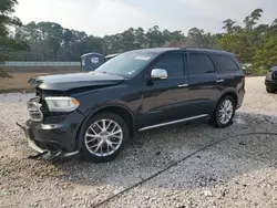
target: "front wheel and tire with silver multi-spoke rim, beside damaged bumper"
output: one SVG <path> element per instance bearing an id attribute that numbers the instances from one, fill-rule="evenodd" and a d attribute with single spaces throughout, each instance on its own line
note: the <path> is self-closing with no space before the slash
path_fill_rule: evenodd
<path id="1" fill-rule="evenodd" d="M 130 131 L 117 114 L 100 113 L 88 122 L 82 135 L 82 157 L 93 163 L 106 163 L 121 154 Z"/>

